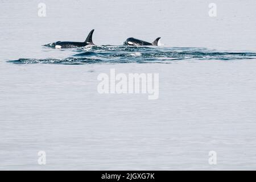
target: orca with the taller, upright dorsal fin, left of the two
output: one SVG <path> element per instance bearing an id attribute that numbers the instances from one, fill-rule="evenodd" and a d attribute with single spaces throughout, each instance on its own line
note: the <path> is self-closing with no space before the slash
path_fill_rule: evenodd
<path id="1" fill-rule="evenodd" d="M 87 38 L 85 39 L 85 42 L 55 42 L 53 43 L 53 46 L 55 46 L 55 48 L 76 48 L 76 47 L 85 47 L 85 46 L 93 46 L 93 42 L 92 42 L 92 35 L 93 35 L 93 30 L 91 30 L 87 36 Z"/>

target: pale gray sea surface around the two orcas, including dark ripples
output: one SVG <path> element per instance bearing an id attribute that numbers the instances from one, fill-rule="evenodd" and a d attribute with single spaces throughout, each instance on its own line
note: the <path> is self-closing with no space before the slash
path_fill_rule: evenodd
<path id="1" fill-rule="evenodd" d="M 40 2 L 0 1 L 0 169 L 256 169 L 255 1 Z M 159 73 L 158 100 L 99 94 L 110 69 Z"/>

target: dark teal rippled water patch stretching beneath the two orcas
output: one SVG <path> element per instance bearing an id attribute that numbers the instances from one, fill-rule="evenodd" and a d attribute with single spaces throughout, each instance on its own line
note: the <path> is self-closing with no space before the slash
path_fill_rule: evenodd
<path id="1" fill-rule="evenodd" d="M 67 49 L 66 49 L 67 50 Z M 93 46 L 69 49 L 75 52 L 65 59 L 18 59 L 14 64 L 115 64 L 115 63 L 172 63 L 181 60 L 246 60 L 256 59 L 255 52 L 216 51 L 207 48 L 167 48 Z M 60 51 L 61 55 L 61 51 Z"/>

